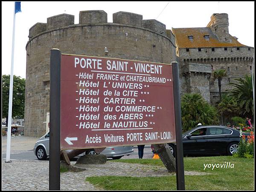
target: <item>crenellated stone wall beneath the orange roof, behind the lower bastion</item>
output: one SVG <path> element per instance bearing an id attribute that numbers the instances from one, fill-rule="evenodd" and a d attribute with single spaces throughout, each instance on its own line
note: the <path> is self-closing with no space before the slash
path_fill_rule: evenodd
<path id="1" fill-rule="evenodd" d="M 249 50 L 250 48 L 250 50 Z M 215 48 L 213 52 L 211 48 L 178 49 L 181 66 L 188 63 L 202 63 L 210 66 L 212 71 L 216 69 L 226 69 L 227 77 L 222 78 L 221 92 L 226 92 L 228 89 L 233 89 L 233 86 L 228 85 L 230 82 L 235 82 L 235 78 L 244 77 L 251 74 L 253 65 L 254 49 L 251 47 L 228 47 L 227 51 L 224 48 Z M 213 75 L 210 79 L 210 101 L 215 104 L 219 100 L 218 79 L 213 82 Z"/>

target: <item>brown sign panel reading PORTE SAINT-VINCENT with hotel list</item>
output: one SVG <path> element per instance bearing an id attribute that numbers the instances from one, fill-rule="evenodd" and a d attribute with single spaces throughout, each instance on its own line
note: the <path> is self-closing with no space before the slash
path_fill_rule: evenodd
<path id="1" fill-rule="evenodd" d="M 172 65 L 61 54 L 61 149 L 175 138 Z"/>

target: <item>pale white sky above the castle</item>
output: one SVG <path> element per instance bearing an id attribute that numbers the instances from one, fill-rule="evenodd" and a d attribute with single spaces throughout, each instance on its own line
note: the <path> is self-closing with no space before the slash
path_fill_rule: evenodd
<path id="1" fill-rule="evenodd" d="M 244 45 L 254 47 L 254 2 L 253 1 L 210 1 L 210 2 L 26 2 L 21 1 L 21 11 L 16 14 L 14 75 L 26 78 L 26 43 L 29 29 L 35 23 L 47 23 L 47 18 L 58 14 L 75 15 L 79 23 L 79 11 L 103 10 L 108 14 L 108 23 L 113 22 L 112 14 L 118 11 L 143 15 L 143 19 L 156 19 L 166 29 L 206 27 L 213 13 L 227 13 L 229 33 L 238 37 Z M 11 73 L 12 30 L 14 3 L 2 1 L 2 75 Z"/>

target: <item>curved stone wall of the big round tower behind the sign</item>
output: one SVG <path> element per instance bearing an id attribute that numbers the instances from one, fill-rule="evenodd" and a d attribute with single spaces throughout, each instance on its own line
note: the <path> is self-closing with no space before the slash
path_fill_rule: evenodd
<path id="1" fill-rule="evenodd" d="M 96 16 L 101 19 L 99 22 L 92 18 L 95 14 L 104 13 L 82 11 L 79 15 L 83 18 L 79 18 L 79 22 L 83 24 L 73 25 L 69 25 L 73 20 L 72 16 L 67 22 L 58 22 L 58 17 L 62 17 L 60 15 L 56 18 L 50 17 L 58 23 L 58 28 L 38 30 L 39 34 L 33 33 L 30 37 L 26 45 L 24 135 L 41 137 L 46 131 L 43 122 L 46 121 L 46 112 L 49 112 L 49 63 L 52 48 L 58 48 L 62 53 L 105 57 L 104 48 L 107 47 L 108 57 L 112 58 L 158 63 L 171 63 L 176 60 L 175 46 L 169 37 L 138 26 L 142 19 L 140 15 L 124 12 L 122 16 L 122 12 L 118 12 L 118 23 L 101 23 L 102 17 Z M 64 15 L 66 16 L 67 14 Z M 48 21 L 49 18 L 47 29 L 54 27 L 52 21 L 51 24 Z"/>

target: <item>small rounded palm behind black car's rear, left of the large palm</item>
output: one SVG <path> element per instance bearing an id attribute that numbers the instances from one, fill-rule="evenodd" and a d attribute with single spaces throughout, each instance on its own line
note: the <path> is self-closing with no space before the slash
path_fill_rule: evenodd
<path id="1" fill-rule="evenodd" d="M 239 115 L 239 110 L 240 107 L 236 98 L 231 95 L 224 94 L 221 102 L 218 103 L 218 111 L 221 115 L 225 115 L 228 121 L 231 120 L 231 117 Z"/>

